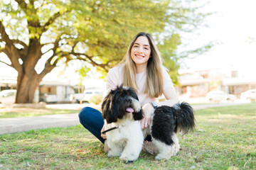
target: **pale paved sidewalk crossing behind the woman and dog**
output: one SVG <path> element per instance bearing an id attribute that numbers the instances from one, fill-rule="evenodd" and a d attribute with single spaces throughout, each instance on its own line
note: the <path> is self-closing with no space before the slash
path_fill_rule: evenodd
<path id="1" fill-rule="evenodd" d="M 212 108 L 220 106 L 234 106 L 242 103 L 216 103 L 209 105 L 193 106 L 194 110 L 203 108 Z M 68 127 L 79 125 L 78 113 L 59 114 L 59 115 L 41 115 L 36 117 L 23 118 L 1 118 L 0 119 L 0 135 L 14 132 L 24 132 L 28 130 Z"/>

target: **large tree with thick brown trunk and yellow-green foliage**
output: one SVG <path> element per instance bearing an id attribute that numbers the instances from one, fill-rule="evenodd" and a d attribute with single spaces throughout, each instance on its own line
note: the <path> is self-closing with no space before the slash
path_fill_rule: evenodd
<path id="1" fill-rule="evenodd" d="M 16 103 L 31 103 L 43 77 L 60 61 L 82 60 L 107 72 L 139 31 L 169 42 L 170 47 L 163 47 L 170 54 L 180 44 L 177 30 L 196 26 L 202 19 L 195 8 L 183 4 L 177 0 L 0 0 L 0 52 L 11 64 L 1 58 L 0 62 L 18 72 Z M 37 64 L 44 64 L 41 72 L 36 72 Z"/>

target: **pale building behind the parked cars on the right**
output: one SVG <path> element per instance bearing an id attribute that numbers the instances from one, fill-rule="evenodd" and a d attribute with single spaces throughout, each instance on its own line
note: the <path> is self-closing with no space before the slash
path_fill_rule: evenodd
<path id="1" fill-rule="evenodd" d="M 238 66 L 190 72 L 181 75 L 178 91 L 190 97 L 206 96 L 212 90 L 240 96 L 244 91 L 256 89 L 255 72 L 256 68 Z"/>

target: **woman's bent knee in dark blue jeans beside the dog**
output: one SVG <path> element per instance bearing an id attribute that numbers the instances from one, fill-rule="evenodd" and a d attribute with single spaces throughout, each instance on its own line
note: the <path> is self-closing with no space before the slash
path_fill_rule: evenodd
<path id="1" fill-rule="evenodd" d="M 100 130 L 104 125 L 102 113 L 95 108 L 85 107 L 82 108 L 78 116 L 80 123 L 104 144 L 105 139 L 100 136 Z"/>

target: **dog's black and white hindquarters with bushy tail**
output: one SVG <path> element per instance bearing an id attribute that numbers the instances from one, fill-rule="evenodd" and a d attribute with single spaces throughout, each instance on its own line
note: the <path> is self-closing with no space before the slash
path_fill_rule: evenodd
<path id="1" fill-rule="evenodd" d="M 156 159 L 170 159 L 180 146 L 177 132 L 193 130 L 195 118 L 193 108 L 188 103 L 177 103 L 173 107 L 159 106 L 154 110 L 151 125 L 143 130 L 144 136 L 151 135 L 158 150 Z"/>

